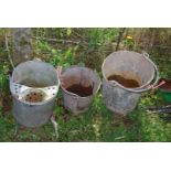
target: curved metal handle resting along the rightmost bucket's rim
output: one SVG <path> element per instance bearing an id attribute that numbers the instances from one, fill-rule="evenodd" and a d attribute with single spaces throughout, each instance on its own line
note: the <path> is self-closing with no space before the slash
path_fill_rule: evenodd
<path id="1" fill-rule="evenodd" d="M 147 90 L 150 90 L 150 89 L 153 89 L 154 86 L 158 84 L 158 81 L 159 81 L 159 71 L 158 71 L 158 67 L 157 65 L 149 58 L 149 54 L 146 53 L 146 52 L 142 52 L 142 56 L 146 57 L 146 60 L 148 60 L 153 68 L 154 68 L 154 78 L 153 78 L 153 83 L 148 85 L 148 86 L 145 86 L 145 87 L 141 87 L 141 88 L 136 88 L 136 89 L 132 89 L 132 88 L 126 88 L 124 87 L 122 85 L 120 85 L 119 83 L 115 82 L 115 81 L 111 81 L 111 83 L 115 83 L 115 85 L 126 89 L 126 90 L 129 90 L 129 92 L 132 92 L 132 93 L 143 93 L 143 92 L 147 92 Z"/>

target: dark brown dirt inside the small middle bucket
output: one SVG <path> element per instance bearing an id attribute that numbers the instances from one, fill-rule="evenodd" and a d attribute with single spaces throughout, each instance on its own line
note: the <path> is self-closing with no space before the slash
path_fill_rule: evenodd
<path id="1" fill-rule="evenodd" d="M 72 86 L 66 88 L 67 92 L 74 93 L 81 97 L 86 97 L 93 95 L 92 86 L 83 86 L 81 84 L 73 84 Z"/>

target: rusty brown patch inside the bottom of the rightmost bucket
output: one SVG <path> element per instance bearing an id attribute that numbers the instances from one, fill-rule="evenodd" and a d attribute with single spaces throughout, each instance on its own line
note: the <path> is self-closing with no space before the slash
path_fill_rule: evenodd
<path id="1" fill-rule="evenodd" d="M 108 77 L 108 81 L 116 81 L 127 88 L 136 88 L 140 86 L 140 84 L 136 79 L 126 78 L 121 75 L 110 75 Z"/>

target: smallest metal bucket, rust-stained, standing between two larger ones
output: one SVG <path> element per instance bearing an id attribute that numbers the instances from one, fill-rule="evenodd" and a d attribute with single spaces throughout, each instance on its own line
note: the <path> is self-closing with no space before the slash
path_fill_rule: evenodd
<path id="1" fill-rule="evenodd" d="M 93 97 L 100 87 L 97 73 L 87 67 L 72 66 L 61 74 L 64 106 L 74 114 L 89 108 Z"/>

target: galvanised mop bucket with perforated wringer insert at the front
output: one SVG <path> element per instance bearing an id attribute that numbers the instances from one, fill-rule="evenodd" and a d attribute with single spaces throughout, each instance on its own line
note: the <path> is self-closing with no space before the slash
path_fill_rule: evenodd
<path id="1" fill-rule="evenodd" d="M 56 70 L 41 61 L 19 64 L 10 78 L 13 116 L 25 127 L 40 127 L 53 113 L 60 79 Z"/>

